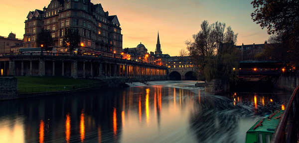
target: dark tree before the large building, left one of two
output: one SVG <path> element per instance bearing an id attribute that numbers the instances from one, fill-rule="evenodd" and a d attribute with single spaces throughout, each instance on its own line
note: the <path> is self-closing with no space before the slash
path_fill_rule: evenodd
<path id="1" fill-rule="evenodd" d="M 41 50 L 47 50 L 52 47 L 54 45 L 54 41 L 51 37 L 51 31 L 48 29 L 41 29 L 41 31 L 37 33 L 36 42 L 38 47 L 41 47 Z"/>

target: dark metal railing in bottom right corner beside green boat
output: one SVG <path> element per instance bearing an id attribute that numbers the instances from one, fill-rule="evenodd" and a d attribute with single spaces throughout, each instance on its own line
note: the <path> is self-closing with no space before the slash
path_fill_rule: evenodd
<path id="1" fill-rule="evenodd" d="M 299 86 L 293 92 L 278 127 L 273 134 L 271 143 L 297 143 L 299 139 L 299 121 L 297 110 Z"/>

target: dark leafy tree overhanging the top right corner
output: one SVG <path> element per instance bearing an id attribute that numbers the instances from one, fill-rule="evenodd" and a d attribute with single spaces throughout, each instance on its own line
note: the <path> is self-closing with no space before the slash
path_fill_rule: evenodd
<path id="1" fill-rule="evenodd" d="M 276 44 L 280 47 L 272 44 L 265 48 L 268 56 L 293 65 L 299 63 L 299 0 L 254 0 L 251 4 L 255 8 L 253 21 L 274 34 L 270 43 L 280 43 Z"/>

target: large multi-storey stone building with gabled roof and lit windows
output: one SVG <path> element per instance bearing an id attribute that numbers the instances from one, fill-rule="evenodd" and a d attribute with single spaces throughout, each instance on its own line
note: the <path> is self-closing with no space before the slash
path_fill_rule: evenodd
<path id="1" fill-rule="evenodd" d="M 29 11 L 25 20 L 24 48 L 36 43 L 41 29 L 51 31 L 58 52 L 66 52 L 62 40 L 67 28 L 79 30 L 82 50 L 101 51 L 103 55 L 122 53 L 123 35 L 116 15 L 109 15 L 101 4 L 90 0 L 51 0 L 43 10 Z"/>

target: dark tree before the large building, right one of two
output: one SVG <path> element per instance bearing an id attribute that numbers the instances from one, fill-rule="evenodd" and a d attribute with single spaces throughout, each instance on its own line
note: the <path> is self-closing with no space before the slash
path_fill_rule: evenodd
<path id="1" fill-rule="evenodd" d="M 62 45 L 72 53 L 76 48 L 80 46 L 80 34 L 77 29 L 67 28 L 65 31 L 64 39 L 62 40 Z"/>

